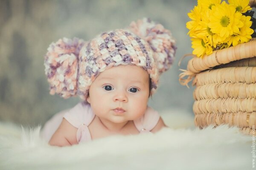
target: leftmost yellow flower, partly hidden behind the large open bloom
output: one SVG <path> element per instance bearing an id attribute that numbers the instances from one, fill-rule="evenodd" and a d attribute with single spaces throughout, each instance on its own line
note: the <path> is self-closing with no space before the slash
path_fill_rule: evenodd
<path id="1" fill-rule="evenodd" d="M 193 10 L 191 10 L 190 13 L 188 13 L 189 18 L 191 21 L 186 23 L 186 28 L 189 29 L 189 36 L 190 37 L 196 37 L 198 32 L 202 29 L 201 26 L 201 6 L 195 6 Z"/>

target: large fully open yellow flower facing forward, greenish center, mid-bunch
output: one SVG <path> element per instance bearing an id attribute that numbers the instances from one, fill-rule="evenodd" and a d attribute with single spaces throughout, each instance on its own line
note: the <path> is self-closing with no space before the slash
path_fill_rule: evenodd
<path id="1" fill-rule="evenodd" d="M 229 37 L 233 34 L 239 34 L 239 28 L 244 26 L 240 21 L 242 14 L 236 12 L 234 6 L 228 5 L 223 1 L 220 5 L 212 6 L 210 11 L 210 22 L 208 24 L 212 33 L 218 34 L 220 37 Z"/>

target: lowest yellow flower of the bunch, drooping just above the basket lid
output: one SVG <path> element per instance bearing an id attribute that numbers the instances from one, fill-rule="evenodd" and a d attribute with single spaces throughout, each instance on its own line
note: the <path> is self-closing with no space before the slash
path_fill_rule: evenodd
<path id="1" fill-rule="evenodd" d="M 192 38 L 192 48 L 194 48 L 192 54 L 197 57 L 204 57 L 204 54 L 212 54 L 212 47 L 208 40 L 201 38 Z"/>

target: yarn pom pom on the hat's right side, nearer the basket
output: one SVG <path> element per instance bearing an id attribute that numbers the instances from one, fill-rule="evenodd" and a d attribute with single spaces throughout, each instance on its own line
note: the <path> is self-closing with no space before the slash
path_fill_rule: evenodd
<path id="1" fill-rule="evenodd" d="M 168 70 L 173 63 L 176 51 L 175 40 L 171 32 L 161 24 L 155 24 L 149 18 L 133 21 L 129 29 L 151 46 L 159 73 L 162 74 Z"/>

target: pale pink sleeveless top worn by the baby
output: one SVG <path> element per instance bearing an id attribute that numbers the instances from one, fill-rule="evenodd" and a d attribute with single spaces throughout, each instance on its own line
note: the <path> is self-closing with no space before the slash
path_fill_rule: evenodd
<path id="1" fill-rule="evenodd" d="M 93 113 L 90 104 L 80 102 L 70 110 L 65 110 L 57 113 L 44 126 L 42 136 L 49 141 L 55 130 L 60 125 L 62 118 L 66 119 L 71 125 L 78 128 L 76 139 L 78 143 L 87 142 L 91 140 L 88 126 L 93 121 L 95 114 Z M 146 112 L 139 119 L 134 120 L 134 125 L 140 133 L 150 132 L 156 125 L 160 115 L 154 109 L 147 107 Z M 56 123 L 58 126 L 56 126 Z M 57 128 L 56 128 L 57 127 Z M 52 129 L 55 129 L 52 132 Z M 51 132 L 49 132 L 51 130 Z"/>

